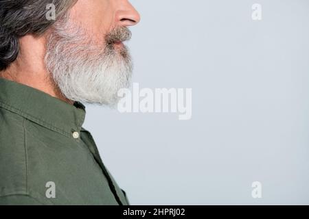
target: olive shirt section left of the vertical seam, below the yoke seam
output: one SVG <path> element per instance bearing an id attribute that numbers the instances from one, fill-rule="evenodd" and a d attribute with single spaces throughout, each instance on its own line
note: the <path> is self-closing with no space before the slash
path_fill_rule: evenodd
<path id="1" fill-rule="evenodd" d="M 0 196 L 25 193 L 24 120 L 0 107 Z"/>

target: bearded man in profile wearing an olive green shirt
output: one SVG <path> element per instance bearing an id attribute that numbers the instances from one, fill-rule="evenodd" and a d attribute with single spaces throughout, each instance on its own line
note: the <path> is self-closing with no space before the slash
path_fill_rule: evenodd
<path id="1" fill-rule="evenodd" d="M 0 0 L 0 205 L 129 204 L 82 103 L 117 103 L 138 22 L 128 0 Z"/>

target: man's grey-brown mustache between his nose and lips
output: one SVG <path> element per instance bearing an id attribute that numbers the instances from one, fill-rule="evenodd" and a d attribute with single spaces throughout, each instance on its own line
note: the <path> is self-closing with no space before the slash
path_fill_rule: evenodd
<path id="1" fill-rule="evenodd" d="M 128 27 L 115 27 L 105 36 L 106 44 L 114 44 L 115 42 L 123 42 L 130 40 L 132 32 Z"/>

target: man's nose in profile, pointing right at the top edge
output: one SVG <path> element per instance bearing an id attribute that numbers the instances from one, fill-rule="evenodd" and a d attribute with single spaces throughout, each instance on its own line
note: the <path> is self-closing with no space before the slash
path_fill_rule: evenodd
<path id="1" fill-rule="evenodd" d="M 139 12 L 128 1 L 122 2 L 122 7 L 116 12 L 117 23 L 122 27 L 137 25 L 141 21 Z"/>

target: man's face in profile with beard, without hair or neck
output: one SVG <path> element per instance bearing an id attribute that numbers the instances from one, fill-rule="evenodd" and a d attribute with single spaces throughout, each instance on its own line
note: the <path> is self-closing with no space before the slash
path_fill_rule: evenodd
<path id="1" fill-rule="evenodd" d="M 114 105 L 129 86 L 133 64 L 124 41 L 139 23 L 128 0 L 78 0 L 52 26 L 45 64 L 71 101 Z"/>

